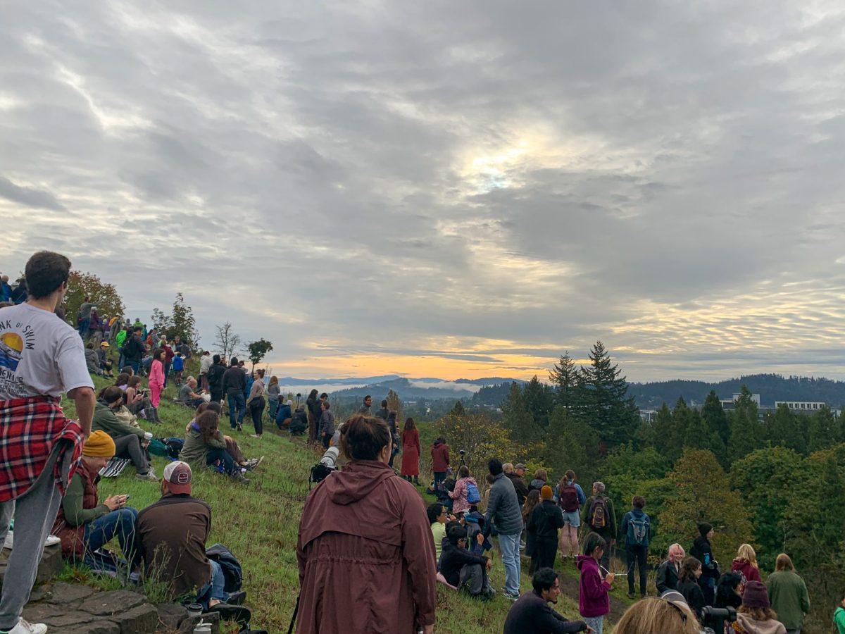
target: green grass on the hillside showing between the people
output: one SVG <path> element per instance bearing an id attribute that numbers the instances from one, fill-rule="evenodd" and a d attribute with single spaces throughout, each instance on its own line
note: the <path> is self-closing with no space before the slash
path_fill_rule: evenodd
<path id="1" fill-rule="evenodd" d="M 98 390 L 110 385 L 99 377 L 95 378 L 95 384 Z M 188 408 L 172 403 L 173 396 L 174 388 L 168 387 L 159 408 L 161 424 L 141 421 L 141 426 L 156 437 L 183 437 L 185 425 L 192 418 Z M 74 416 L 72 401 L 65 399 L 63 407 L 68 416 Z M 221 420 L 221 429 L 230 433 L 226 420 Z M 297 530 L 308 495 L 308 473 L 319 459 L 319 454 L 309 450 L 298 439 L 275 435 L 270 433 L 270 429 L 275 427 L 265 424 L 261 440 L 249 437 L 251 424 L 244 424 L 243 433 L 232 433 L 247 457 L 265 456 L 259 470 L 248 473 L 250 484 L 236 484 L 219 474 L 198 470 L 194 472 L 194 496 L 208 502 L 212 509 L 209 545 L 216 542 L 225 544 L 241 561 L 243 588 L 247 591 L 247 604 L 254 611 L 254 626 L 279 632 L 287 631 L 299 591 Z M 401 460 L 401 456 L 397 459 Z M 166 458 L 153 457 L 155 473 L 159 477 L 167 462 Z M 128 465 L 118 478 L 102 480 L 101 499 L 109 495 L 129 494 L 128 504 L 139 510 L 158 500 L 161 495 L 159 485 L 141 482 L 134 478 L 134 474 L 134 468 Z M 499 588 L 504 585 L 504 571 L 498 553 L 493 552 L 491 582 L 500 593 Z M 523 560 L 523 571 L 527 571 L 527 563 Z M 63 572 L 63 577 L 99 583 L 86 576 L 85 571 L 70 566 Z M 113 589 L 113 581 L 103 583 L 106 588 Z M 622 584 L 617 586 L 621 588 Z M 523 591 L 531 588 L 531 580 L 525 573 L 521 588 Z M 501 596 L 483 604 L 439 585 L 435 630 L 454 634 L 501 631 L 510 605 L 510 601 Z M 577 617 L 577 597 L 561 596 L 557 609 L 569 618 Z"/>

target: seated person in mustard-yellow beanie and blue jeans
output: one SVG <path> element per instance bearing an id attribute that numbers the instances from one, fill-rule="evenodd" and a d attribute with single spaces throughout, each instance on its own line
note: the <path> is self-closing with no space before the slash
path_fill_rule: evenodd
<path id="1" fill-rule="evenodd" d="M 114 440 L 104 431 L 92 432 L 82 446 L 82 460 L 70 479 L 59 506 L 52 533 L 62 540 L 62 555 L 99 568 L 95 550 L 117 537 L 123 555 L 132 560 L 135 517 L 138 511 L 126 506 L 128 495 L 112 495 L 98 503 L 100 470 L 114 456 Z"/>

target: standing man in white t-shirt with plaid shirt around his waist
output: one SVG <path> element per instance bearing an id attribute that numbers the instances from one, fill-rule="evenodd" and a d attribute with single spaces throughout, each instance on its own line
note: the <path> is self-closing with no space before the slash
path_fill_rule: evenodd
<path id="1" fill-rule="evenodd" d="M 64 487 L 91 430 L 94 384 L 79 333 L 55 314 L 70 260 L 41 251 L 26 263 L 26 303 L 0 309 L 0 543 L 14 515 L 14 548 L 0 599 L 0 634 L 44 634 L 20 618 Z M 62 394 L 79 422 L 64 418 Z"/>

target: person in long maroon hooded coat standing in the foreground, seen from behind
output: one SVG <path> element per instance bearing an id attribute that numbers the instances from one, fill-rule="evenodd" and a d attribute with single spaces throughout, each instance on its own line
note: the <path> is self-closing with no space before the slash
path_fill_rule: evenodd
<path id="1" fill-rule="evenodd" d="M 417 491 L 387 466 L 390 430 L 356 416 L 341 427 L 340 445 L 350 462 L 308 495 L 299 524 L 297 634 L 431 634 L 431 527 Z"/>

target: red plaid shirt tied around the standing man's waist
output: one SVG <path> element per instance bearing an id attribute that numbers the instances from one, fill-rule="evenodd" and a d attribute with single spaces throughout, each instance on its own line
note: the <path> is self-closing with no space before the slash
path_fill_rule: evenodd
<path id="1" fill-rule="evenodd" d="M 59 399 L 52 396 L 0 401 L 0 502 L 24 495 L 41 475 L 54 445 L 62 440 L 68 443 L 62 444 L 53 477 L 64 495 L 64 452 L 72 451 L 69 482 L 82 455 L 82 427 L 64 418 Z"/>

